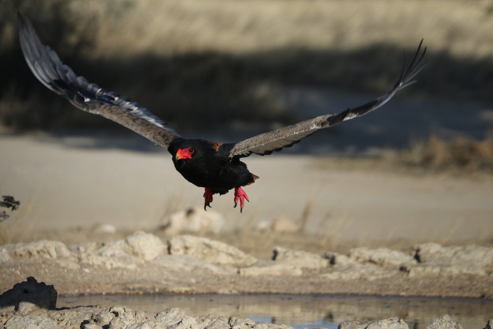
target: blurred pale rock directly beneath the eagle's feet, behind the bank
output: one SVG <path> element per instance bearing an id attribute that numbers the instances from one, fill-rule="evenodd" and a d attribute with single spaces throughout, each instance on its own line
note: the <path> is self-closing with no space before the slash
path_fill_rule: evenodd
<path id="1" fill-rule="evenodd" d="M 218 212 L 211 209 L 205 212 L 201 207 L 193 207 L 172 214 L 164 230 L 170 235 L 180 232 L 219 233 L 224 222 L 224 217 Z"/>

